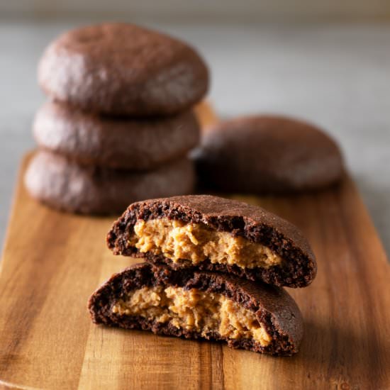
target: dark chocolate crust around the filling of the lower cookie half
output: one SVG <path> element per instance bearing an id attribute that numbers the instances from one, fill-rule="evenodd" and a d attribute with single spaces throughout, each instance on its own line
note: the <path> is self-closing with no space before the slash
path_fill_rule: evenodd
<path id="1" fill-rule="evenodd" d="M 189 272 L 188 270 L 174 270 L 167 267 L 151 267 L 150 264 L 134 264 L 118 274 L 114 274 L 89 299 L 88 307 L 94 323 L 120 326 L 121 328 L 143 328 L 155 333 L 166 335 L 196 336 L 197 331 L 187 325 L 186 329 L 177 330 L 175 326 L 160 321 L 145 321 L 140 316 L 123 316 L 113 313 L 113 305 L 118 299 L 126 299 L 133 291 L 152 286 L 174 286 L 184 288 L 185 291 L 201 291 L 207 294 L 221 294 L 228 297 L 238 308 L 255 313 L 258 325 L 270 336 L 267 345 L 259 345 L 250 338 L 229 340 L 221 334 L 212 332 L 207 335 L 211 340 L 226 340 L 230 346 L 244 348 L 255 352 L 272 355 L 292 355 L 299 350 L 303 335 L 303 320 L 301 312 L 294 299 L 284 289 L 249 282 L 237 277 L 231 277 L 216 272 Z M 180 303 L 177 303 L 177 308 Z M 196 304 L 191 306 L 196 310 Z M 156 312 L 156 310 L 155 310 Z M 217 313 L 216 313 L 217 314 Z M 153 320 L 153 319 L 152 319 Z M 201 322 L 202 319 L 199 319 Z"/>

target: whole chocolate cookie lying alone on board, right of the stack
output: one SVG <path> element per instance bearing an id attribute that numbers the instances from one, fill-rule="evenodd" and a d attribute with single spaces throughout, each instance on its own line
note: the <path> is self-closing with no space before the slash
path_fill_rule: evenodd
<path id="1" fill-rule="evenodd" d="M 338 145 L 323 131 L 282 116 L 219 123 L 194 151 L 201 186 L 216 191 L 283 194 L 321 189 L 344 172 Z"/>

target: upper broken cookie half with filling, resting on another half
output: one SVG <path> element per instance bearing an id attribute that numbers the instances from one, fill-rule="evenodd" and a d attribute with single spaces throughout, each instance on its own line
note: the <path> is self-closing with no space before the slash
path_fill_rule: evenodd
<path id="1" fill-rule="evenodd" d="M 307 286 L 317 270 L 310 245 L 294 225 L 263 208 L 210 195 L 131 204 L 113 224 L 107 244 L 115 255 L 277 286 Z"/>

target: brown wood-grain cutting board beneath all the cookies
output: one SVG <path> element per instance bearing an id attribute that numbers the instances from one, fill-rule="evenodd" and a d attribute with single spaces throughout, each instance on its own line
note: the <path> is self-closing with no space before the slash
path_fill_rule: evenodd
<path id="1" fill-rule="evenodd" d="M 208 106 L 201 121 L 214 121 Z M 235 196 L 295 223 L 318 277 L 289 289 L 301 351 L 270 357 L 223 344 L 96 326 L 87 299 L 133 260 L 114 257 L 114 218 L 58 213 L 30 199 L 23 160 L 0 274 L 0 387 L 39 389 L 390 389 L 390 267 L 349 177 L 318 194 Z"/>

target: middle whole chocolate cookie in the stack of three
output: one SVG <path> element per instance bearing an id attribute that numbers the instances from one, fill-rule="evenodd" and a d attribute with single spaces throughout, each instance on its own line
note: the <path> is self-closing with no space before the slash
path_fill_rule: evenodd
<path id="1" fill-rule="evenodd" d="M 150 119 L 113 119 L 47 103 L 35 116 L 36 142 L 83 165 L 153 169 L 183 157 L 199 143 L 194 113 Z"/>

